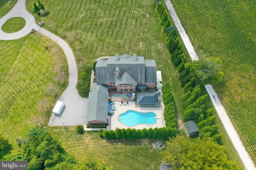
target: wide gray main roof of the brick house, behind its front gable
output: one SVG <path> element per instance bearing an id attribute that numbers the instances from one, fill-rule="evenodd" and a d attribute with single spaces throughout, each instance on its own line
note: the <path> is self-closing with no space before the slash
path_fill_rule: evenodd
<path id="1" fill-rule="evenodd" d="M 136 55 L 122 55 L 109 57 L 108 60 L 100 60 L 96 64 L 96 83 L 116 82 L 125 72 L 135 82 L 156 83 L 156 63 L 154 60 L 144 60 L 144 57 Z M 137 60 L 135 60 L 135 57 Z M 116 68 L 119 76 L 116 76 Z"/>

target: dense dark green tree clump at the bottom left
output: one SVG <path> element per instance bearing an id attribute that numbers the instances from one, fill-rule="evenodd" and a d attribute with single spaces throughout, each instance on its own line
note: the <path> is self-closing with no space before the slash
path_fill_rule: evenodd
<path id="1" fill-rule="evenodd" d="M 26 160 L 28 170 L 105 170 L 107 168 L 104 161 L 96 162 L 88 159 L 85 164 L 78 163 L 41 127 L 30 130 L 25 138 L 20 139 L 19 146 L 20 149 L 16 154 L 5 155 L 4 160 Z"/>

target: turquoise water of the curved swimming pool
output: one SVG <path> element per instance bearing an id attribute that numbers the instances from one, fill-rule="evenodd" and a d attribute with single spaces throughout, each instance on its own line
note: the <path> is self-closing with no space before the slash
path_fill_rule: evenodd
<path id="1" fill-rule="evenodd" d="M 140 113 L 134 110 L 127 110 L 121 114 L 118 119 L 121 123 L 131 127 L 138 124 L 154 124 L 156 123 L 156 114 L 153 112 Z"/>

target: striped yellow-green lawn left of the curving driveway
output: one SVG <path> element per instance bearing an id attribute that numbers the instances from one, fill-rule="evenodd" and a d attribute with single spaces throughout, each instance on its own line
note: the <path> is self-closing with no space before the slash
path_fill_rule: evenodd
<path id="1" fill-rule="evenodd" d="M 68 66 L 60 47 L 37 33 L 1 40 L 0 47 L 0 132 L 15 151 L 16 137 L 48 124 L 52 106 L 68 84 Z"/>

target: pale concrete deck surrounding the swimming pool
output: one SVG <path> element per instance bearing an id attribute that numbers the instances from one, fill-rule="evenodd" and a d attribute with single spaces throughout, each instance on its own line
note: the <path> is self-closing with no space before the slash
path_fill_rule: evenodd
<path id="1" fill-rule="evenodd" d="M 116 110 L 114 111 L 114 114 L 112 116 L 110 116 L 110 130 L 115 130 L 116 127 L 118 129 L 149 129 L 150 127 L 152 129 L 158 127 L 165 127 L 164 124 L 164 115 L 163 115 L 163 107 L 136 107 L 135 106 L 135 102 L 130 102 L 127 105 L 120 105 L 120 102 L 114 102 L 114 106 L 116 106 Z M 163 106 L 163 104 L 162 104 Z M 138 111 L 141 113 L 145 113 L 145 112 L 154 112 L 156 114 L 156 117 L 160 117 L 160 119 L 156 119 L 156 123 L 152 124 L 152 125 L 146 125 L 146 124 L 139 124 L 139 125 L 134 125 L 132 127 L 128 127 L 126 125 L 124 125 L 123 123 L 121 123 L 118 120 L 119 115 L 121 115 L 122 113 L 126 112 L 127 110 L 134 110 L 134 111 Z"/>

